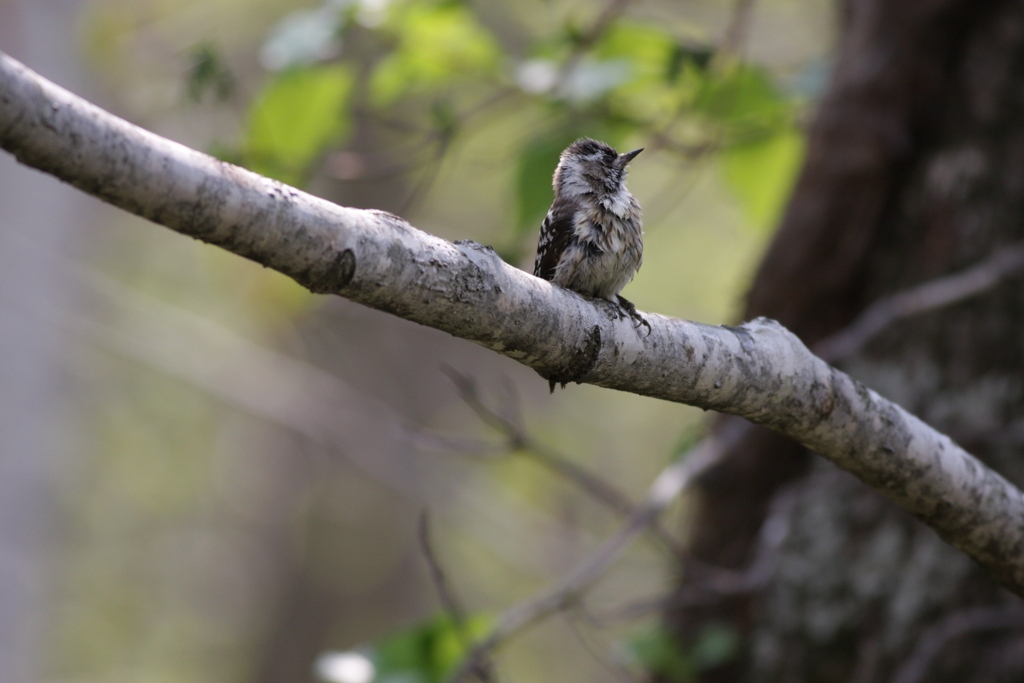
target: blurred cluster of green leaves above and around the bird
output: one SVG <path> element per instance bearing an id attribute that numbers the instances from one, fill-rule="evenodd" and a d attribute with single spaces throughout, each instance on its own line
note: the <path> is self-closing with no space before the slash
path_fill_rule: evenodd
<path id="1" fill-rule="evenodd" d="M 342 49 L 355 37 L 373 47 Z M 252 105 L 241 158 L 292 183 L 344 145 L 357 113 L 433 138 L 442 155 L 488 98 L 545 108 L 518 152 L 513 244 L 525 244 L 543 217 L 558 154 L 582 135 L 615 146 L 655 134 L 655 150 L 720 155 L 759 230 L 777 219 L 803 155 L 795 123 L 803 98 L 786 96 L 768 70 L 652 20 L 621 18 L 595 35 L 569 23 L 518 55 L 503 50 L 469 3 L 328 0 L 285 16 L 261 54 L 283 71 Z"/>

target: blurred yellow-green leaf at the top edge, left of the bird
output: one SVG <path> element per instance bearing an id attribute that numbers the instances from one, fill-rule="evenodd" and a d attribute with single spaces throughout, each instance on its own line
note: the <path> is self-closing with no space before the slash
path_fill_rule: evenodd
<path id="1" fill-rule="evenodd" d="M 371 99 L 378 106 L 451 81 L 493 74 L 501 58 L 494 38 L 461 4 L 399 6 L 388 28 L 397 45 L 370 80 Z"/>

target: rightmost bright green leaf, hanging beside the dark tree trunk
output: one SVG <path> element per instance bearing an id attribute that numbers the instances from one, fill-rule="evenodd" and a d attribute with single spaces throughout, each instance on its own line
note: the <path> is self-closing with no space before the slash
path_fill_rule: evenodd
<path id="1" fill-rule="evenodd" d="M 786 128 L 722 152 L 726 183 L 755 229 L 771 229 L 778 221 L 803 162 L 804 147 L 804 136 Z"/>

